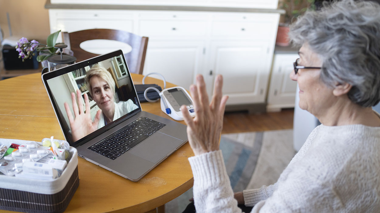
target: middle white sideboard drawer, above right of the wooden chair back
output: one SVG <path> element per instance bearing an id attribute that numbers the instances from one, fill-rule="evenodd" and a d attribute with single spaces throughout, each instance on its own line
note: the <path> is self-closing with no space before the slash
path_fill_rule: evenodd
<path id="1" fill-rule="evenodd" d="M 142 36 L 204 36 L 204 21 L 140 21 Z"/>

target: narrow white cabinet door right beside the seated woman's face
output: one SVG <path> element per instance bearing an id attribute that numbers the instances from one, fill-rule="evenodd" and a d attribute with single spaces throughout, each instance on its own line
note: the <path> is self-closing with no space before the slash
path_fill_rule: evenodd
<path id="1" fill-rule="evenodd" d="M 275 54 L 268 92 L 268 111 L 294 107 L 297 82 L 289 78 L 298 54 Z"/>

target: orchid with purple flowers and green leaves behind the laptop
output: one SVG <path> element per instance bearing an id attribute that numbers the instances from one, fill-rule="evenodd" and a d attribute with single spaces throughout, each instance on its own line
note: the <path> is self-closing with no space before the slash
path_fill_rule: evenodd
<path id="1" fill-rule="evenodd" d="M 50 56 L 54 56 L 57 52 L 57 48 L 54 47 L 56 45 L 56 41 L 61 30 L 50 34 L 47 37 L 46 45 L 41 44 L 36 40 L 28 41 L 27 38 L 20 38 L 19 42 L 16 45 L 16 51 L 19 52 L 19 58 L 24 61 L 25 59 L 31 59 L 33 56 L 38 53 L 37 61 L 41 62 L 46 60 Z"/>

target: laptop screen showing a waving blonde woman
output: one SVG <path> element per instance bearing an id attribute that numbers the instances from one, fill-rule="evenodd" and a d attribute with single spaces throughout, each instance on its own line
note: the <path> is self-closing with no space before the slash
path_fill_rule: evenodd
<path id="1" fill-rule="evenodd" d="M 141 111 L 122 51 L 46 73 L 43 80 L 72 146 Z"/>

